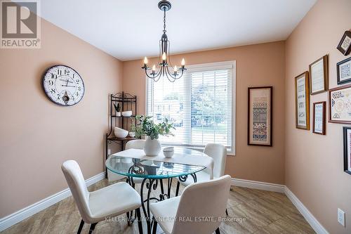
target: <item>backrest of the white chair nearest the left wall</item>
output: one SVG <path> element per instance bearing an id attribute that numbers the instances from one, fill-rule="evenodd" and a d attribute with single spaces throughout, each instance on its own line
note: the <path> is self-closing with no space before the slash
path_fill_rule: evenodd
<path id="1" fill-rule="evenodd" d="M 88 221 L 89 217 L 91 217 L 88 206 L 89 192 L 79 164 L 74 160 L 68 160 L 62 164 L 61 169 L 77 204 L 81 219 Z"/>

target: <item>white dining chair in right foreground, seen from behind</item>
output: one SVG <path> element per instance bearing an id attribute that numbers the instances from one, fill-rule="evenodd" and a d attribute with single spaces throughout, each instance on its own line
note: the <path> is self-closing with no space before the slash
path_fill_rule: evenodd
<path id="1" fill-rule="evenodd" d="M 153 233 L 157 223 L 166 234 L 220 233 L 220 218 L 229 197 L 229 175 L 210 181 L 192 183 L 182 195 L 150 204 L 154 218 Z M 207 217 L 208 219 L 203 219 Z"/>

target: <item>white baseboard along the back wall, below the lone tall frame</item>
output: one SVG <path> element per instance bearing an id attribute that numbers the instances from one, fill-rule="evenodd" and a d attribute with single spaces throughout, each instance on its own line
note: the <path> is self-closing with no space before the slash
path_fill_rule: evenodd
<path id="1" fill-rule="evenodd" d="M 284 193 L 285 186 L 277 183 L 265 183 L 260 181 L 248 181 L 241 178 L 232 178 L 232 186 L 253 188 L 260 190 L 273 191 L 277 193 Z"/>

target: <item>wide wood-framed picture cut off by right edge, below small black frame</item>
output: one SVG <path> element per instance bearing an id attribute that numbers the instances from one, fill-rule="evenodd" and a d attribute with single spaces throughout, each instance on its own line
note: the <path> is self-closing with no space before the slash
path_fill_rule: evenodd
<path id="1" fill-rule="evenodd" d="M 351 85 L 329 89 L 329 122 L 351 124 Z"/>

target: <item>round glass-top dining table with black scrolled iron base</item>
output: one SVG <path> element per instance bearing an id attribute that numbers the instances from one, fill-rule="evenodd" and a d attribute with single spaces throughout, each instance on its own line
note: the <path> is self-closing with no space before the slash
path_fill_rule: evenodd
<path id="1" fill-rule="evenodd" d="M 175 156 L 173 157 L 176 157 L 176 155 L 183 155 L 183 157 L 187 158 L 187 160 L 185 160 L 184 158 L 183 160 L 180 160 L 181 162 L 184 161 L 185 163 L 169 162 L 170 160 L 167 160 L 163 155 L 161 157 L 155 157 L 154 159 L 152 159 L 152 157 L 136 157 L 136 155 L 140 155 L 140 153 L 143 152 L 142 150 L 124 150 L 117 153 L 117 155 L 111 155 L 107 158 L 105 162 L 105 165 L 108 170 L 116 174 L 126 176 L 127 182 L 133 188 L 135 188 L 133 178 L 142 178 L 143 182 L 141 182 L 140 184 L 140 198 L 143 213 L 145 215 L 145 221 L 147 223 L 147 233 L 151 233 L 152 228 L 156 228 L 156 226 L 152 227 L 154 222 L 152 222 L 152 216 L 150 214 L 150 200 L 157 202 L 164 200 L 165 197 L 171 197 L 172 179 L 176 177 L 178 177 L 178 183 L 175 193 L 175 195 L 177 196 L 180 185 L 179 181 L 185 181 L 188 176 L 191 176 L 194 182 L 196 182 L 196 173 L 206 169 L 206 167 L 200 166 L 199 163 L 197 165 L 186 163 L 191 162 L 189 160 L 189 157 L 192 157 L 194 160 L 204 159 L 205 161 L 206 157 L 208 156 L 204 155 L 204 153 L 199 152 L 197 150 L 190 150 L 187 148 L 178 147 L 176 147 L 174 151 Z M 199 156 L 202 156 L 204 158 L 201 158 Z M 166 188 L 164 188 L 163 184 L 164 179 L 168 181 Z M 158 184 L 161 188 L 159 196 L 151 197 L 151 190 L 157 190 Z M 144 193 L 145 189 L 147 190 L 147 193 Z M 147 194 L 147 197 L 145 197 L 145 194 Z M 131 212 L 131 214 L 127 213 L 127 216 L 129 219 L 129 217 L 133 216 L 133 212 Z"/>

